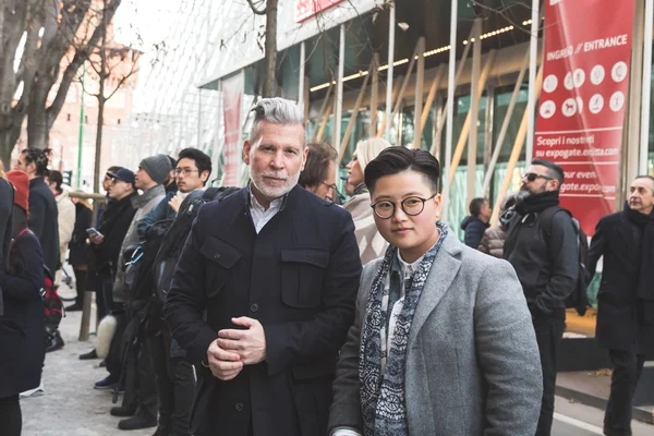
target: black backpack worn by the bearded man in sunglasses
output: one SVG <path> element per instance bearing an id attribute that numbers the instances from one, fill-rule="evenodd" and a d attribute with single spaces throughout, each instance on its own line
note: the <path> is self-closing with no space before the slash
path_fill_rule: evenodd
<path id="1" fill-rule="evenodd" d="M 552 223 L 554 216 L 559 211 L 565 211 L 572 219 L 572 226 L 574 227 L 574 231 L 577 233 L 577 249 L 579 251 L 579 276 L 577 278 L 577 286 L 574 287 L 572 293 L 566 299 L 566 307 L 574 308 L 580 316 L 583 316 L 585 315 L 586 308 L 591 306 L 589 303 L 589 294 L 586 292 L 586 288 L 590 284 L 590 276 L 586 272 L 589 259 L 589 238 L 570 210 L 555 206 L 543 210 L 538 216 L 541 228 L 545 232 L 545 243 L 547 245 L 549 245 L 549 239 L 552 238 Z"/>

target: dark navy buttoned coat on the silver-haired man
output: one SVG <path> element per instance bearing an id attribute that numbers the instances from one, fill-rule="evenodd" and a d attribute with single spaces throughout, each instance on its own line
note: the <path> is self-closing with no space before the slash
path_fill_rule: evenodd
<path id="1" fill-rule="evenodd" d="M 258 234 L 247 187 L 203 206 L 165 306 L 173 338 L 198 368 L 194 434 L 245 436 L 251 425 L 255 436 L 326 434 L 360 275 L 350 214 L 302 187 Z M 239 316 L 262 323 L 267 358 L 221 382 L 201 361 Z"/>

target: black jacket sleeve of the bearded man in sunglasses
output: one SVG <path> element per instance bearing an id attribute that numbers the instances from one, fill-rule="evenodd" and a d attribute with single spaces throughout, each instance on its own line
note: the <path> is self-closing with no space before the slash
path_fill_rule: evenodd
<path id="1" fill-rule="evenodd" d="M 548 244 L 552 276 L 535 300 L 536 308 L 544 314 L 560 306 L 574 290 L 579 278 L 578 237 L 568 214 L 554 215 Z"/>

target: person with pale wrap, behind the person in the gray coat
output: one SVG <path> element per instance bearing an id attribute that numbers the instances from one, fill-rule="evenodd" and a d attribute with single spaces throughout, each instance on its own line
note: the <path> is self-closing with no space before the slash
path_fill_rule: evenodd
<path id="1" fill-rule="evenodd" d="M 382 150 L 390 147 L 388 141 L 372 137 L 360 141 L 352 155 L 352 160 L 348 164 L 348 186 L 352 189 L 351 197 L 343 204 L 343 208 L 352 214 L 354 220 L 354 235 L 359 244 L 359 255 L 363 265 L 384 255 L 387 243 L 382 238 L 373 221 L 373 209 L 371 209 L 371 194 L 363 173 L 365 167 L 374 158 L 379 156 Z"/>

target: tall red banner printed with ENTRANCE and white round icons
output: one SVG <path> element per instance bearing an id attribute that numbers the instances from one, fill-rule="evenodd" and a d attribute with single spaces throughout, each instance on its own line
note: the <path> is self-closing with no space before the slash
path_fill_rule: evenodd
<path id="1" fill-rule="evenodd" d="M 546 0 L 534 157 L 566 172 L 561 204 L 592 235 L 614 211 L 635 0 Z"/>

